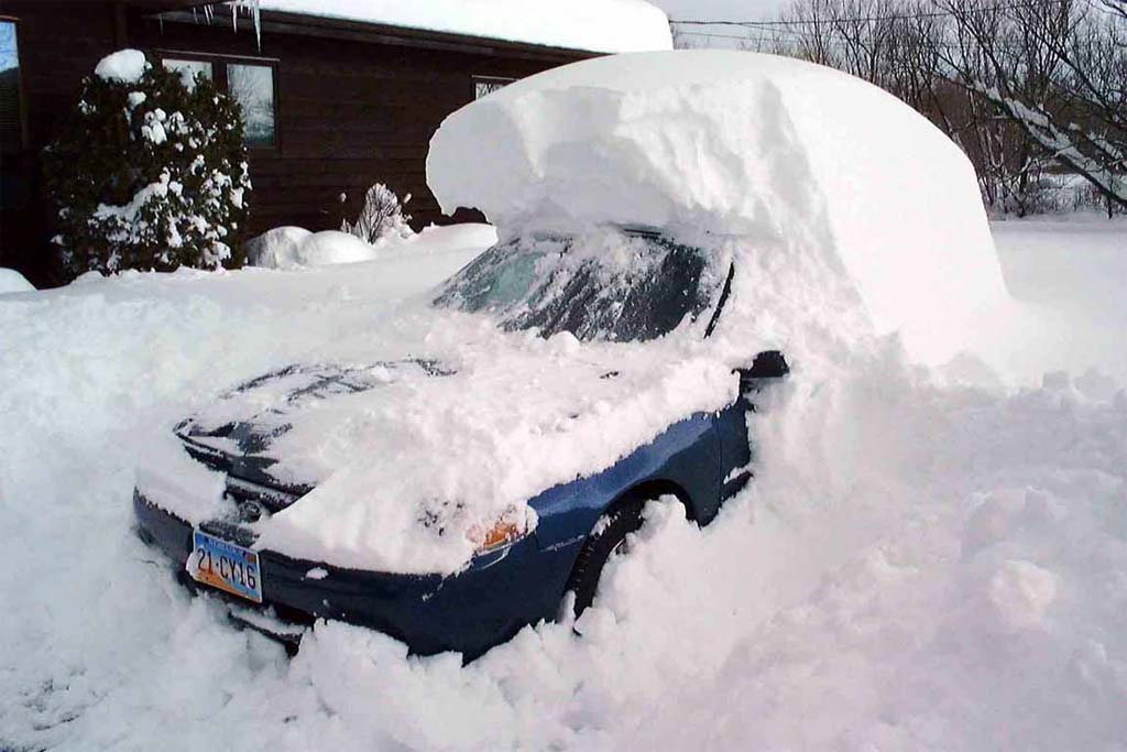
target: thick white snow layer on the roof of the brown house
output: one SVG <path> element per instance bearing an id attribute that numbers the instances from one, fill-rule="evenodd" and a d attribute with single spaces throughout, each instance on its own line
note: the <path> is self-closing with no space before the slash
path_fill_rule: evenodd
<path id="1" fill-rule="evenodd" d="M 258 0 L 258 8 L 592 52 L 673 48 L 668 18 L 645 0 Z"/>

